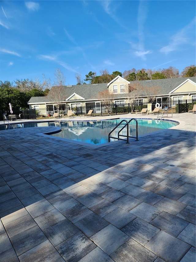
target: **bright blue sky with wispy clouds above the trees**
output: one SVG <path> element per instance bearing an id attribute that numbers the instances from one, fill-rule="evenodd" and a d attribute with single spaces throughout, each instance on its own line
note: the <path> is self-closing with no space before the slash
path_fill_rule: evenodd
<path id="1" fill-rule="evenodd" d="M 195 1 L 1 1 L 0 80 L 195 64 Z"/>

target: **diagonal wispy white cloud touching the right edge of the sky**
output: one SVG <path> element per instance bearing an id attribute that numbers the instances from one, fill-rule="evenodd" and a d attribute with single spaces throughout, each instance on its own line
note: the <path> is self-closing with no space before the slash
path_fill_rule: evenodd
<path id="1" fill-rule="evenodd" d="M 179 49 L 179 46 L 181 45 L 190 44 L 190 36 L 192 34 L 192 30 L 195 30 L 195 18 L 187 26 L 183 27 L 179 32 L 174 34 L 171 37 L 170 43 L 162 47 L 160 49 L 160 52 L 168 54 Z"/>

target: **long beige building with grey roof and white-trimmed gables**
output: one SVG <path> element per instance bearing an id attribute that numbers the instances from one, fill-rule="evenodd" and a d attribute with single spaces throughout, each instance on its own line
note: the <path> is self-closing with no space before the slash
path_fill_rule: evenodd
<path id="1" fill-rule="evenodd" d="M 141 92 L 137 94 L 138 85 Z M 53 86 L 50 92 L 58 92 L 58 87 Z M 159 103 L 160 108 L 171 101 L 192 100 L 196 101 L 196 78 L 169 78 L 157 80 L 127 81 L 121 76 L 116 76 L 110 83 L 83 84 L 64 86 L 61 98 L 61 110 L 67 108 L 87 109 L 93 108 L 100 112 L 100 92 L 108 92 L 112 96 L 112 103 L 123 105 L 128 103 Z M 154 92 L 154 94 L 153 94 Z M 109 95 L 108 95 L 109 97 Z M 107 100 L 107 98 L 106 98 Z M 45 109 L 51 113 L 56 111 L 55 102 L 49 96 L 31 97 L 28 101 L 29 109 Z"/>

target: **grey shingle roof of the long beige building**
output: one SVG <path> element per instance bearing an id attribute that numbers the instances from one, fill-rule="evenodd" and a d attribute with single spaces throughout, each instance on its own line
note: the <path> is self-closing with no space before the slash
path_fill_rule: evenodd
<path id="1" fill-rule="evenodd" d="M 183 77 L 183 78 L 167 78 L 167 79 L 156 79 L 156 80 L 141 80 L 141 81 L 131 81 L 131 84 L 140 83 L 145 87 L 160 87 L 159 95 L 169 94 L 174 88 L 182 84 L 187 79 L 190 79 L 196 82 L 196 77 Z M 51 89 L 58 88 L 57 86 L 53 86 Z M 76 93 L 79 96 L 82 96 L 85 100 L 96 100 L 98 93 L 100 91 L 107 90 L 107 83 L 103 84 L 81 84 L 81 85 L 72 85 L 72 86 L 64 86 L 64 94 L 62 101 L 65 101 L 68 97 Z M 114 98 L 124 98 L 125 94 L 116 94 Z M 51 101 L 47 98 L 47 96 L 38 96 L 31 97 L 28 103 L 50 103 Z"/>

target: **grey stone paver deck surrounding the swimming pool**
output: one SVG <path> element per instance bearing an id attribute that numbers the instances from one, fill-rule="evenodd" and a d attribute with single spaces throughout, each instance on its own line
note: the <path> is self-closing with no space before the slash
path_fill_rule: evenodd
<path id="1" fill-rule="evenodd" d="M 0 261 L 195 261 L 195 116 L 97 148 L 0 131 Z M 157 115 L 69 120 L 118 117 Z"/>

